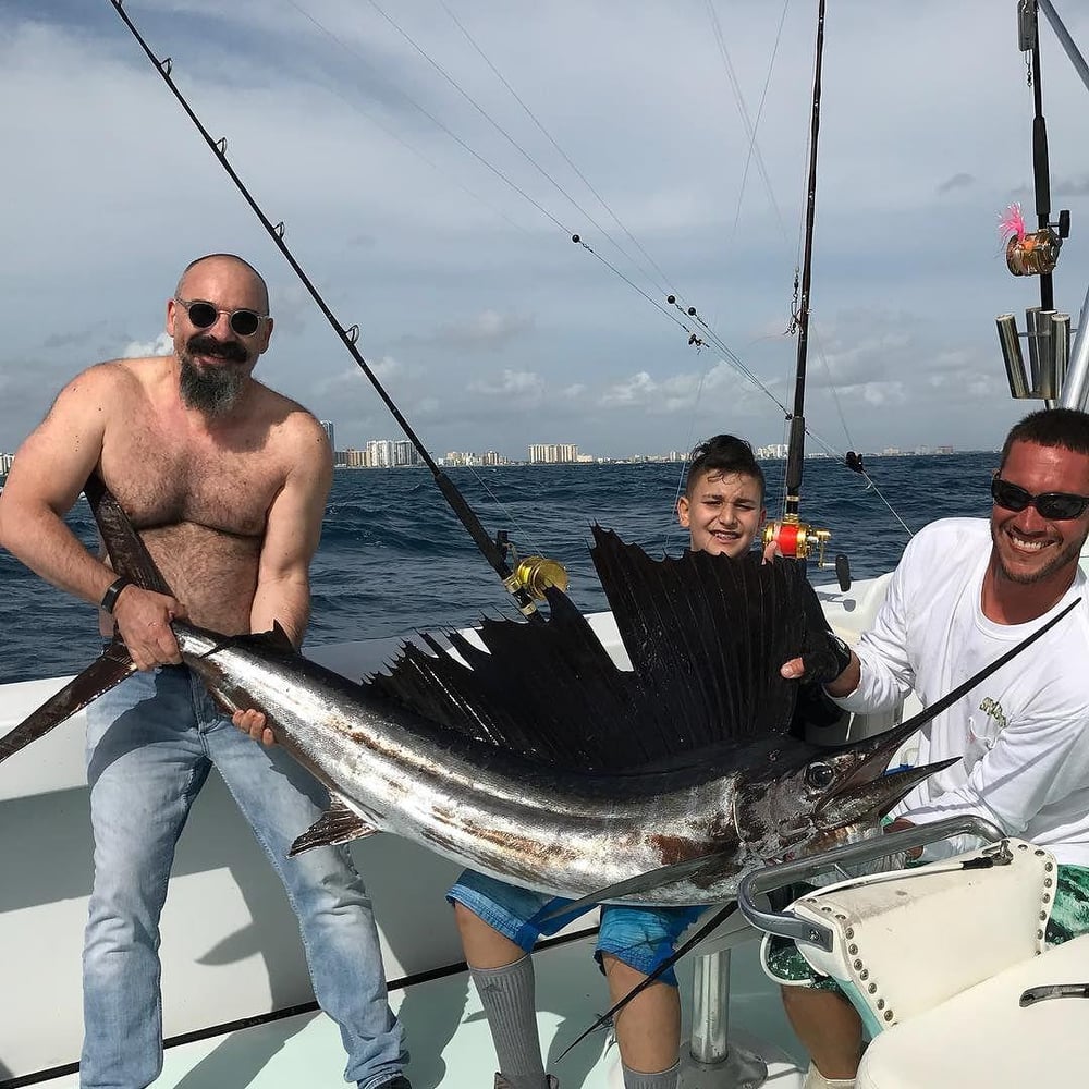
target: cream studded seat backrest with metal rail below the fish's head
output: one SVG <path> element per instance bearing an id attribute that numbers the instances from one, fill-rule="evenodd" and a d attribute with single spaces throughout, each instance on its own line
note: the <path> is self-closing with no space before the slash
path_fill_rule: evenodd
<path id="1" fill-rule="evenodd" d="M 799 943 L 803 956 L 840 983 L 871 1035 L 1043 952 L 1055 860 L 1021 840 L 1003 843 L 1007 865 L 964 868 L 993 845 L 794 902 L 795 915 L 833 931 L 830 952 Z"/>

